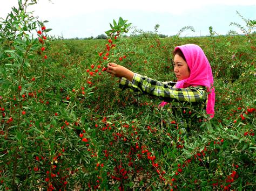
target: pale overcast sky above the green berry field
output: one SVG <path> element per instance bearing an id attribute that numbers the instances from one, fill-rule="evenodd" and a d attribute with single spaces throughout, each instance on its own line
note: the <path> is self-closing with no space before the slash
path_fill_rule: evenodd
<path id="1" fill-rule="evenodd" d="M 18 7 L 18 0 L 0 0 L 0 3 L 2 18 L 6 18 L 13 6 Z M 159 33 L 168 36 L 177 34 L 184 26 L 193 26 L 196 32 L 185 31 L 183 36 L 207 36 L 210 26 L 218 34 L 227 34 L 229 30 L 241 33 L 230 26 L 231 22 L 245 26 L 236 11 L 246 19 L 256 19 L 255 0 L 39 0 L 30 10 L 39 20 L 49 20 L 46 28 L 52 29 L 50 35 L 64 38 L 97 37 L 119 17 L 144 31 L 153 31 L 159 24 Z"/>

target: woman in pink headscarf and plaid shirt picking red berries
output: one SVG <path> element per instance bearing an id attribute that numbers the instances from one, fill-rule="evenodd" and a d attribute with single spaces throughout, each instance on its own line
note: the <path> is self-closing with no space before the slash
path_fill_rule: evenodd
<path id="1" fill-rule="evenodd" d="M 131 70 L 109 63 L 106 72 L 120 77 L 120 87 L 154 95 L 161 100 L 171 102 L 206 103 L 206 112 L 214 116 L 215 93 L 210 63 L 203 50 L 194 44 L 186 44 L 174 48 L 174 73 L 177 82 L 159 82 L 133 73 Z M 159 106 L 163 107 L 166 102 Z"/>

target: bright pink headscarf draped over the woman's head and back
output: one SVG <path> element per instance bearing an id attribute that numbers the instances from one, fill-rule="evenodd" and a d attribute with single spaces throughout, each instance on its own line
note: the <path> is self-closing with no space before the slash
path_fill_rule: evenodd
<path id="1" fill-rule="evenodd" d="M 177 46 L 174 50 L 180 49 L 183 52 L 187 65 L 190 68 L 190 77 L 176 83 L 176 88 L 187 88 L 190 86 L 205 86 L 208 92 L 206 112 L 214 117 L 215 89 L 213 87 L 212 69 L 203 49 L 198 45 L 186 44 Z M 163 107 L 166 102 L 159 106 Z"/>

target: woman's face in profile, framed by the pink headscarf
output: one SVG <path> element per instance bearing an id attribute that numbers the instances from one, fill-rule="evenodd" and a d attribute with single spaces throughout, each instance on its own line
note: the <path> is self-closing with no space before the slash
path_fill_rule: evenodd
<path id="1" fill-rule="evenodd" d="M 178 81 L 190 76 L 190 69 L 187 66 L 187 62 L 180 55 L 175 54 L 173 62 L 174 73 Z"/>

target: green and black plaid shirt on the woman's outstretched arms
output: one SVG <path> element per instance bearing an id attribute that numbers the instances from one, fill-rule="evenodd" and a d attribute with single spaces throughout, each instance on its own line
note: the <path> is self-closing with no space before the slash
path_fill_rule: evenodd
<path id="1" fill-rule="evenodd" d="M 166 102 L 206 102 L 207 93 L 203 86 L 175 88 L 176 82 L 159 82 L 135 73 L 132 82 L 125 77 L 120 79 L 119 89 L 124 90 L 130 88 L 133 92 L 139 92 L 157 96 L 160 100 Z"/>

